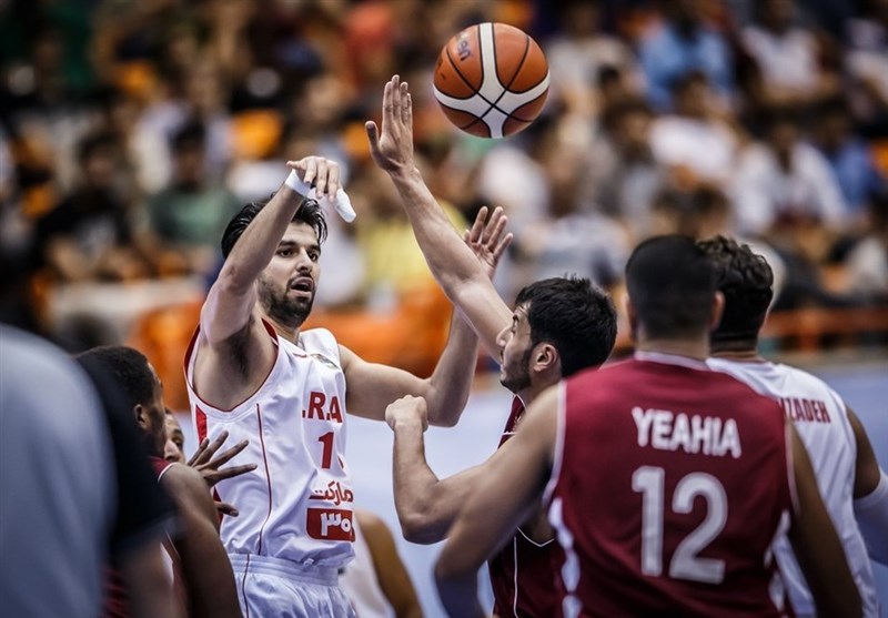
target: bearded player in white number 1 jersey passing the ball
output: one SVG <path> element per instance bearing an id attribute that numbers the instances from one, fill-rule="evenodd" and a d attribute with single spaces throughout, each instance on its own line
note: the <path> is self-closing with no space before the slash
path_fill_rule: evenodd
<path id="1" fill-rule="evenodd" d="M 326 234 L 317 201 L 302 195 L 311 185 L 322 201 L 337 200 L 343 216 L 351 211 L 336 163 L 310 156 L 289 165 L 274 196 L 244 206 L 225 230 L 225 263 L 186 358 L 189 394 L 198 433 L 249 439 L 258 464 L 218 485 L 240 511 L 222 536 L 244 614 L 351 616 L 336 574 L 354 538 L 346 411 L 383 421 L 392 401 L 412 394 L 428 401 L 432 424 L 455 424 L 477 338 L 455 321 L 438 365 L 422 379 L 363 361 L 326 331 L 301 332 Z M 495 264 L 500 232 L 483 222 L 476 229 L 476 255 Z"/>

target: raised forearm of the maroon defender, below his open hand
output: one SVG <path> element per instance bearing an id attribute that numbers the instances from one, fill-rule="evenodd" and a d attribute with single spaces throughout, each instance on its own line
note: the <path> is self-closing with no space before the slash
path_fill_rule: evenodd
<path id="1" fill-rule="evenodd" d="M 457 302 L 458 285 L 472 278 L 487 278 L 486 273 L 432 195 L 420 170 L 411 165 L 389 175 L 404 202 L 432 274 L 447 297 Z"/>

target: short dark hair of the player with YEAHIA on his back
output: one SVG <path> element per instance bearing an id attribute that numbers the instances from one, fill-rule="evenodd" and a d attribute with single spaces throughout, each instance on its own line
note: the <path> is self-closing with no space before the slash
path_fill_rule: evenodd
<path id="1" fill-rule="evenodd" d="M 678 338 L 708 331 L 715 269 L 694 239 L 655 236 L 626 263 L 626 288 L 649 337 Z"/>

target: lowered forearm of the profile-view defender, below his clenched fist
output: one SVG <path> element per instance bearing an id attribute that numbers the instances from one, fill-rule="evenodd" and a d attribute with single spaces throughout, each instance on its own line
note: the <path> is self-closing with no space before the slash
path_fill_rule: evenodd
<path id="1" fill-rule="evenodd" d="M 411 543 L 437 543 L 456 517 L 460 503 L 437 495 L 444 486 L 425 459 L 422 425 L 400 422 L 392 429 L 395 510 L 401 530 Z"/>

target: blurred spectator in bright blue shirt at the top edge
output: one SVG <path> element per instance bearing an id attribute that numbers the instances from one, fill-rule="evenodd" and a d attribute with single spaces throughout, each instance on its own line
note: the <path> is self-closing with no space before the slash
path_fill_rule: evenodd
<path id="1" fill-rule="evenodd" d="M 734 97 L 733 55 L 725 37 L 703 20 L 700 0 L 664 0 L 664 21 L 642 38 L 638 54 L 647 95 L 657 110 L 670 107 L 669 87 L 703 71 L 725 102 Z"/>

